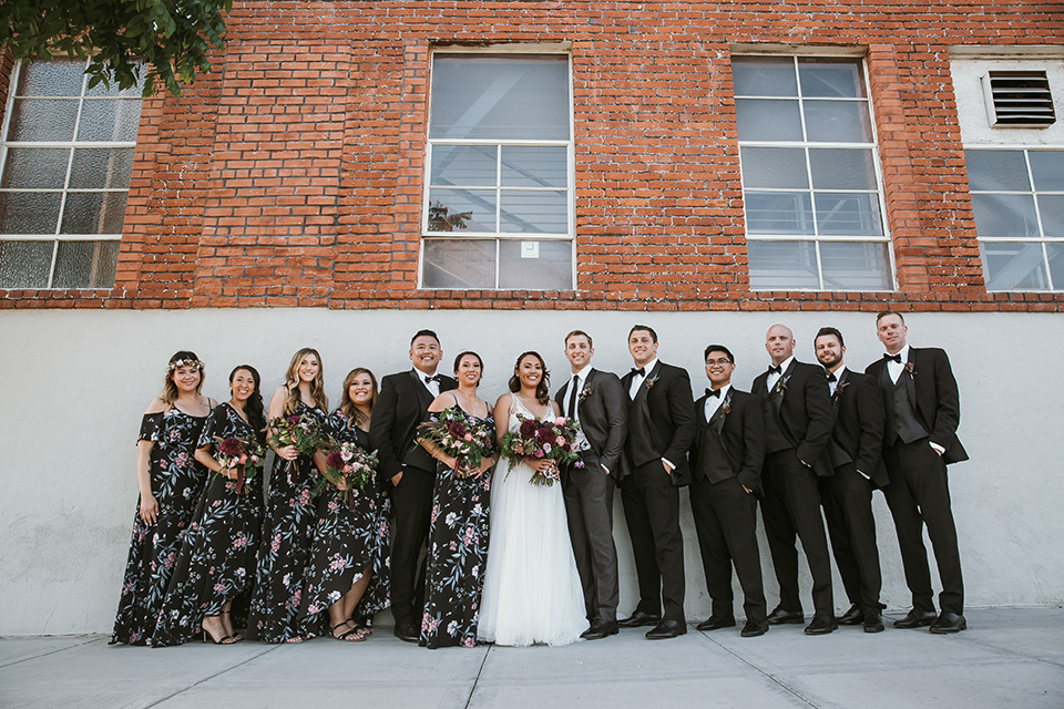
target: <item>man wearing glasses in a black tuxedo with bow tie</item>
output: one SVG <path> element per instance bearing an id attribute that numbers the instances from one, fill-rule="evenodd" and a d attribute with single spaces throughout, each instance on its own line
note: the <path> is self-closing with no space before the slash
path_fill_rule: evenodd
<path id="1" fill-rule="evenodd" d="M 713 613 L 698 630 L 735 626 L 732 565 L 743 586 L 745 638 L 765 635 L 765 587 L 757 551 L 757 500 L 765 460 L 763 402 L 732 386 L 735 357 L 723 345 L 705 351 L 712 387 L 695 402 L 698 428 L 690 445 L 690 511 L 698 533 Z"/>

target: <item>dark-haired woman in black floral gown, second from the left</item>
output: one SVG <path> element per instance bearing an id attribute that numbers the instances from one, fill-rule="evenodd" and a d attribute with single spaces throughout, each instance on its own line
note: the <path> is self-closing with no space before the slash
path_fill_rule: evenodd
<path id="1" fill-rule="evenodd" d="M 255 574 L 264 461 L 259 458 L 257 466 L 245 464 L 244 470 L 253 470 L 245 480 L 236 465 L 223 467 L 212 451 L 222 455 L 226 448 L 222 442 L 238 439 L 245 454 L 257 451 L 265 456 L 260 381 L 249 364 L 234 369 L 229 373 L 232 398 L 211 412 L 200 435 L 196 460 L 214 474 L 184 535 L 155 628 L 155 647 L 187 643 L 201 629 L 204 639 L 209 636 L 215 645 L 244 639 L 233 629 L 232 606 L 234 598 L 250 589 Z"/>

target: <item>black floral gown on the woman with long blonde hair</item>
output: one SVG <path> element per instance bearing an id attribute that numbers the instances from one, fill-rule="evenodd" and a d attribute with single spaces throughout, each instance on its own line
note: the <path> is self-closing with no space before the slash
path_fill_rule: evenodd
<path id="1" fill-rule="evenodd" d="M 324 424 L 326 414 L 300 401 L 296 415 L 305 413 Z M 319 475 L 309 456 L 299 455 L 294 462 L 295 470 L 289 472 L 288 461 L 276 456 L 266 495 L 263 542 L 247 620 L 248 637 L 264 643 L 310 638 L 328 629 L 320 616 L 299 613 L 318 522 L 310 491 Z"/>

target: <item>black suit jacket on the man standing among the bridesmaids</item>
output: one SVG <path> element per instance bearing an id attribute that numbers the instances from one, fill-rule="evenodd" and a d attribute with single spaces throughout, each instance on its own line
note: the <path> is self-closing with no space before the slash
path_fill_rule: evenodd
<path id="1" fill-rule="evenodd" d="M 369 422 L 369 441 L 377 449 L 379 461 L 377 475 L 391 480 L 402 471 L 402 465 L 415 465 L 436 471 L 436 461 L 415 443 L 418 424 L 432 403 L 432 394 L 419 379 L 421 373 L 411 369 L 388 374 L 380 382 L 380 394 Z M 450 391 L 458 383 L 450 377 L 440 377 L 440 391 Z"/>

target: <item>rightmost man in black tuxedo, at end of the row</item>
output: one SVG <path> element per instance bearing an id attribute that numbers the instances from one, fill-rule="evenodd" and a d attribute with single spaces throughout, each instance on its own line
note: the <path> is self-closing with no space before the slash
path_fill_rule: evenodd
<path id="1" fill-rule="evenodd" d="M 883 393 L 883 461 L 890 477 L 884 492 L 898 531 L 906 582 L 912 592 L 912 610 L 896 620 L 894 627 L 931 626 L 931 633 L 959 633 L 968 628 L 968 623 L 945 466 L 968 460 L 956 438 L 961 399 L 945 352 L 909 347 L 908 333 L 901 315 L 887 311 L 876 316 L 876 335 L 887 354 L 864 370 Z M 942 580 L 942 613 L 938 616 L 923 546 L 924 524 Z"/>

